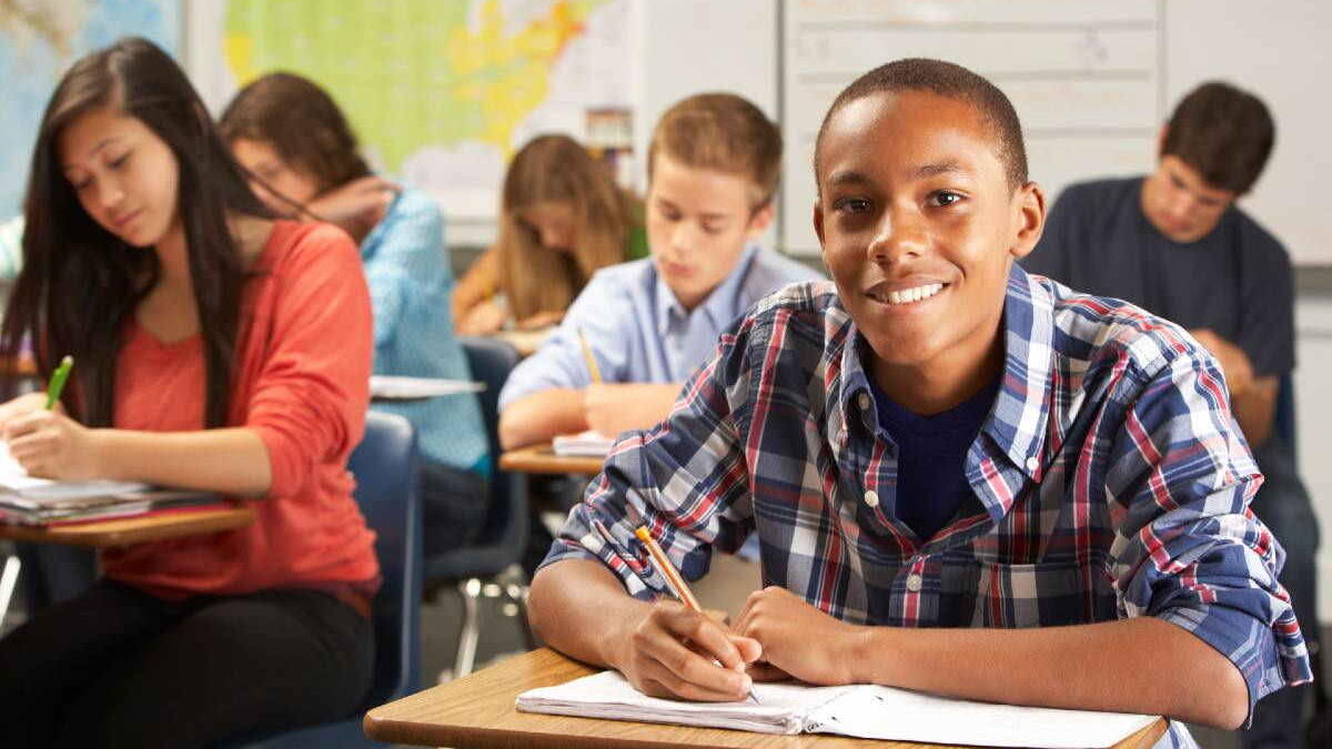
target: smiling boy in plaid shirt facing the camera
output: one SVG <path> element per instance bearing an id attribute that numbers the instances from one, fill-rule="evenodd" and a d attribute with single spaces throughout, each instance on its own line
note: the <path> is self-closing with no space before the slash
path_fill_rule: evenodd
<path id="1" fill-rule="evenodd" d="M 790 674 L 1233 728 L 1308 680 L 1216 361 L 1014 264 L 1044 197 L 1008 99 L 890 63 L 815 176 L 835 285 L 763 300 L 617 445 L 533 580 L 541 637 L 691 700 Z M 770 586 L 730 628 L 651 602 L 639 525 L 690 578 L 757 533 Z"/>

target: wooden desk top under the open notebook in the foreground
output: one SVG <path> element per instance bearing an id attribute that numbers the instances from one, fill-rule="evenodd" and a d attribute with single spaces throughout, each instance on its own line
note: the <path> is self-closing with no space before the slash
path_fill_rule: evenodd
<path id="1" fill-rule="evenodd" d="M 920 749 L 938 746 L 868 741 L 827 734 L 773 736 L 717 728 L 609 721 L 519 713 L 513 701 L 522 692 L 554 686 L 594 673 L 549 648 L 533 650 L 366 713 L 365 734 L 389 744 L 420 746 L 594 746 L 649 749 L 667 746 L 746 749 Z M 1148 748 L 1166 733 L 1158 720 L 1116 749 Z"/>

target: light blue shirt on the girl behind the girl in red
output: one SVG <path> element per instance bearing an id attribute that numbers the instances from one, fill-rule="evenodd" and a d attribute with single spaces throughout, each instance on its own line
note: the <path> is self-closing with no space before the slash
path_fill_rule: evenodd
<path id="1" fill-rule="evenodd" d="M 361 243 L 361 261 L 374 305 L 374 373 L 470 380 L 449 317 L 453 271 L 434 201 L 422 192 L 402 191 Z M 385 401 L 372 408 L 405 416 L 417 430 L 425 458 L 489 472 L 476 396 Z"/>

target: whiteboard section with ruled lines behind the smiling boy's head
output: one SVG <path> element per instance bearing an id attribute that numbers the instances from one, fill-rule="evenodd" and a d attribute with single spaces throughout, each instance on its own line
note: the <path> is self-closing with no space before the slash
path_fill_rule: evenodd
<path id="1" fill-rule="evenodd" d="M 819 251 L 811 164 L 823 115 L 890 60 L 948 60 L 1003 89 L 1051 200 L 1072 181 L 1150 169 L 1164 119 L 1156 0 L 789 0 L 782 52 L 782 244 L 794 255 Z"/>

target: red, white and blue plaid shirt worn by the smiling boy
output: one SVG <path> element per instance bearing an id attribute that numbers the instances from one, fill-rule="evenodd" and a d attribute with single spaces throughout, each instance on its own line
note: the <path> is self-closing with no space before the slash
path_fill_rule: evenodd
<path id="1" fill-rule="evenodd" d="M 667 420 L 615 445 L 545 564 L 599 558 L 649 598 L 667 588 L 633 537 L 641 522 L 691 580 L 713 548 L 757 530 L 765 582 L 844 621 L 1146 614 L 1231 658 L 1251 708 L 1309 680 L 1215 360 L 1177 325 L 1018 265 L 1003 335 L 1003 382 L 966 461 L 982 509 L 963 505 L 928 541 L 894 516 L 896 446 L 878 425 L 868 347 L 815 283 L 739 319 Z M 1172 738 L 1192 744 L 1183 728 Z"/>

